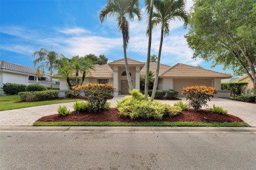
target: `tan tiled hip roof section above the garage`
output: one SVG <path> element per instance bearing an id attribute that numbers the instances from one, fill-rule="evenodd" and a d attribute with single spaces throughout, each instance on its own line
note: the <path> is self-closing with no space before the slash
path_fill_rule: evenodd
<path id="1" fill-rule="evenodd" d="M 232 76 L 217 71 L 210 71 L 202 67 L 194 67 L 182 63 L 173 65 L 169 70 L 165 71 L 160 77 L 219 77 L 230 78 Z"/>

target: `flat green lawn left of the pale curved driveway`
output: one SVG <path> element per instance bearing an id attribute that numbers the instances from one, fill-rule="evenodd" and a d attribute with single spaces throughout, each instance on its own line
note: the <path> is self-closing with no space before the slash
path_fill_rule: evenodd
<path id="1" fill-rule="evenodd" d="M 50 101 L 32 101 L 32 102 L 22 102 L 22 103 L 16 103 L 16 101 L 20 101 L 20 97 L 18 95 L 0 95 L 0 111 L 20 109 L 25 107 L 41 106 L 41 105 L 51 105 L 56 103 L 68 103 L 68 102 L 77 101 L 77 99 L 59 99 L 59 100 L 50 100 Z"/>

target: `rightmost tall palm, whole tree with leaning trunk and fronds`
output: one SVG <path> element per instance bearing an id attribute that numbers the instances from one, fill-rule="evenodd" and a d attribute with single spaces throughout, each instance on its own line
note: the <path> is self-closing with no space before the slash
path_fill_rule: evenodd
<path id="1" fill-rule="evenodd" d="M 156 67 L 156 77 L 152 92 L 151 100 L 154 100 L 156 94 L 156 88 L 158 86 L 158 75 L 160 68 L 161 59 L 161 48 L 163 45 L 163 36 L 169 35 L 169 22 L 178 18 L 184 22 L 184 28 L 188 25 L 188 12 L 185 10 L 185 0 L 155 0 L 154 8 L 156 12 L 153 12 L 152 16 L 152 28 L 154 29 L 157 25 L 161 26 L 161 40 L 158 51 L 158 64 Z M 149 29 L 147 33 L 149 33 Z"/>

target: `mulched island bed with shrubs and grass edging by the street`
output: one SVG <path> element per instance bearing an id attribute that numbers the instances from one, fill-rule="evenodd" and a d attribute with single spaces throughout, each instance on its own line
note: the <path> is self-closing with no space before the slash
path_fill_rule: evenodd
<path id="1" fill-rule="evenodd" d="M 240 118 L 227 114 L 222 107 L 201 109 L 215 92 L 211 87 L 185 88 L 189 93 L 189 105 L 178 101 L 174 106 L 159 101 L 145 101 L 139 90 L 129 90 L 131 95 L 117 101 L 116 108 L 110 108 L 106 101 L 114 87 L 102 84 L 87 84 L 82 87 L 88 101 L 75 102 L 73 112 L 59 107 L 58 113 L 40 118 L 33 126 L 249 126 Z M 196 98 L 200 93 L 202 98 Z"/>

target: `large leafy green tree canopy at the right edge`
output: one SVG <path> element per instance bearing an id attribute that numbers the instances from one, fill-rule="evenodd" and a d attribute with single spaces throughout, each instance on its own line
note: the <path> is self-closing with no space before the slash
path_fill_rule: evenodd
<path id="1" fill-rule="evenodd" d="M 256 1 L 196 0 L 185 35 L 193 58 L 247 74 L 256 92 Z"/>

